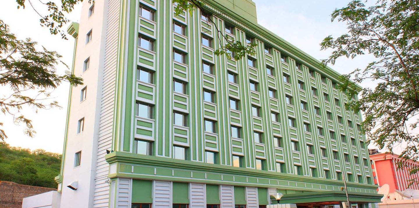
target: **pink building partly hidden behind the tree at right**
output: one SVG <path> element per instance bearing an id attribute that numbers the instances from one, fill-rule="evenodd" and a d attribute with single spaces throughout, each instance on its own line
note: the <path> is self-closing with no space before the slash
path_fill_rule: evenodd
<path id="1" fill-rule="evenodd" d="M 409 171 L 413 167 L 419 166 L 417 161 L 409 160 L 406 162 L 407 167 L 397 169 L 397 163 L 401 161 L 398 155 L 375 152 L 375 154 L 370 154 L 370 159 L 372 176 L 376 185 L 382 186 L 388 184 L 390 186 L 390 193 L 395 192 L 395 190 L 403 191 L 407 188 L 419 190 L 418 184 L 413 184 L 408 187 L 412 179 L 416 179 L 416 181 L 419 179 L 419 173 L 409 174 Z"/>

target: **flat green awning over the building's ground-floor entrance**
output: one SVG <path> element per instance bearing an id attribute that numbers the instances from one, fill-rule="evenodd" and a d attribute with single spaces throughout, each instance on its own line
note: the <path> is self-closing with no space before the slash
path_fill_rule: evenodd
<path id="1" fill-rule="evenodd" d="M 348 192 L 350 203 L 376 203 L 381 202 L 382 194 Z M 345 202 L 346 194 L 344 191 L 318 191 L 303 192 L 297 194 L 285 194 L 280 204 L 339 204 Z"/>

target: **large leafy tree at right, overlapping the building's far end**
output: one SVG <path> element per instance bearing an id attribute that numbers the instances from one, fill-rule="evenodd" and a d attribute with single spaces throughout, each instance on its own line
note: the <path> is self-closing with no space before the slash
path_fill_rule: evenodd
<path id="1" fill-rule="evenodd" d="M 349 97 L 357 94 L 355 83 L 372 81 L 375 88 L 364 88 L 358 101 L 347 109 L 362 111 L 362 133 L 368 142 L 387 148 L 405 143 L 399 168 L 407 159 L 418 160 L 419 136 L 419 1 L 378 0 L 367 7 L 360 0 L 336 9 L 331 20 L 347 24 L 348 33 L 326 37 L 322 49 L 333 49 L 323 64 L 334 64 L 339 57 L 372 54 L 375 61 L 364 69 L 342 76 L 339 86 Z M 416 131 L 416 132 L 415 132 Z M 410 174 L 419 171 L 411 169 Z M 414 179 L 411 183 L 419 182 Z"/>

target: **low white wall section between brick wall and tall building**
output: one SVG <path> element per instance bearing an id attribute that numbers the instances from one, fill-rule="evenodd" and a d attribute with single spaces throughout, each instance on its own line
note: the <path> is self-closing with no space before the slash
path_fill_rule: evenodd
<path id="1" fill-rule="evenodd" d="M 61 193 L 50 191 L 23 198 L 22 208 L 59 208 Z"/>

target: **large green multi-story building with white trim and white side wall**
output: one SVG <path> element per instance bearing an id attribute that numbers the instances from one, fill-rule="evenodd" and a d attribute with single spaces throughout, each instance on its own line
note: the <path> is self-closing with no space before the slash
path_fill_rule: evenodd
<path id="1" fill-rule="evenodd" d="M 83 3 L 61 206 L 339 207 L 343 179 L 353 206 L 380 201 L 339 74 L 260 26 L 251 0 L 202 3 Z M 214 55 L 222 36 L 256 54 Z"/>

